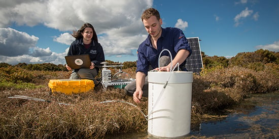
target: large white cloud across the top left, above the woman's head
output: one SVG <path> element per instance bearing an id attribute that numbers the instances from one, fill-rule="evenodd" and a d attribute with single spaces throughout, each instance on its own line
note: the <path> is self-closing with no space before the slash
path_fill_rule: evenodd
<path id="1" fill-rule="evenodd" d="M 122 29 L 131 24 L 143 28 L 141 13 L 151 7 L 152 3 L 151 0 L 11 2 L 9 8 L 0 9 L 0 27 L 7 27 L 15 22 L 18 25 L 44 24 L 60 31 L 73 31 L 79 29 L 83 23 L 89 22 L 98 34 L 107 33 L 111 29 Z"/>

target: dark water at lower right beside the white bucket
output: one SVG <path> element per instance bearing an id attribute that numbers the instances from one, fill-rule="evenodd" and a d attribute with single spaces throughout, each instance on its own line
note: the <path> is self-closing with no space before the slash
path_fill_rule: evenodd
<path id="1" fill-rule="evenodd" d="M 114 138 L 154 137 L 145 132 Z M 191 125 L 190 134 L 180 138 L 279 138 L 279 91 L 252 95 L 226 118 Z"/>

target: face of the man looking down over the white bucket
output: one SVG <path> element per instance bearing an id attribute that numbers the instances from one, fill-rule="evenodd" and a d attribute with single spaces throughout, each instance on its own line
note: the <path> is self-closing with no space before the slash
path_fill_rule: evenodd
<path id="1" fill-rule="evenodd" d="M 157 20 L 156 16 L 151 16 L 147 20 L 143 20 L 146 31 L 150 34 L 152 38 L 158 39 L 161 36 L 161 25 L 162 19 Z"/>

